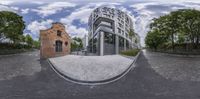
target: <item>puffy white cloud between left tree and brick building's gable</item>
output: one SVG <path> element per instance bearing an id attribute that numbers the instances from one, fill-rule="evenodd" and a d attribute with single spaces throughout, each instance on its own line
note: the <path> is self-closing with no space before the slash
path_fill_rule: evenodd
<path id="1" fill-rule="evenodd" d="M 27 26 L 27 30 L 31 31 L 32 35 L 39 35 L 40 30 L 47 29 L 51 27 L 51 24 L 53 23 L 53 20 L 47 19 L 43 21 L 33 21 Z"/>

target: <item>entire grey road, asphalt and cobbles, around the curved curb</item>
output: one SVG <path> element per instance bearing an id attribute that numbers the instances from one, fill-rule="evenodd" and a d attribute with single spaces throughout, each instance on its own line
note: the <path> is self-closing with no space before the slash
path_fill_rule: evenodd
<path id="1" fill-rule="evenodd" d="M 136 67 L 123 78 L 105 85 L 87 86 L 68 82 L 58 76 L 46 60 L 38 60 L 38 53 L 35 51 L 22 55 L 0 56 L 0 73 L 7 73 L 0 79 L 1 99 L 200 98 L 200 72 L 196 65 L 200 61 L 198 57 L 178 57 L 143 51 L 136 61 Z M 24 72 L 26 69 L 32 72 L 9 76 L 14 71 Z M 184 73 L 186 76 L 178 76 Z"/>

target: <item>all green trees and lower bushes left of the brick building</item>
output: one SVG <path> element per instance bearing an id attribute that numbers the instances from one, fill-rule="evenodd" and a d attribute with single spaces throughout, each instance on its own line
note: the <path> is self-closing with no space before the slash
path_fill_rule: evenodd
<path id="1" fill-rule="evenodd" d="M 0 11 L 0 42 L 9 39 L 13 43 L 0 43 L 2 52 L 21 52 L 25 49 L 39 48 L 39 42 L 34 41 L 30 35 L 23 35 L 25 24 L 22 16 L 14 12 Z"/>

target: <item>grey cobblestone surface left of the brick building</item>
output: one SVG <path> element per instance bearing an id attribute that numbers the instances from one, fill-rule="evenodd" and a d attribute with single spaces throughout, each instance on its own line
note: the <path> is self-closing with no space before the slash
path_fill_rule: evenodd
<path id="1" fill-rule="evenodd" d="M 13 55 L 0 55 L 0 80 L 41 71 L 39 51 Z"/>

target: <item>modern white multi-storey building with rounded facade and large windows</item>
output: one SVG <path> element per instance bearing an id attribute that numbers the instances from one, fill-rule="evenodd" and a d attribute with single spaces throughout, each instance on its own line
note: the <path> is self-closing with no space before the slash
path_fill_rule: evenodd
<path id="1" fill-rule="evenodd" d="M 137 34 L 130 36 L 130 30 L 133 30 L 131 17 L 121 10 L 106 6 L 96 8 L 89 17 L 88 25 L 89 51 L 92 53 L 118 54 L 140 45 Z"/>

